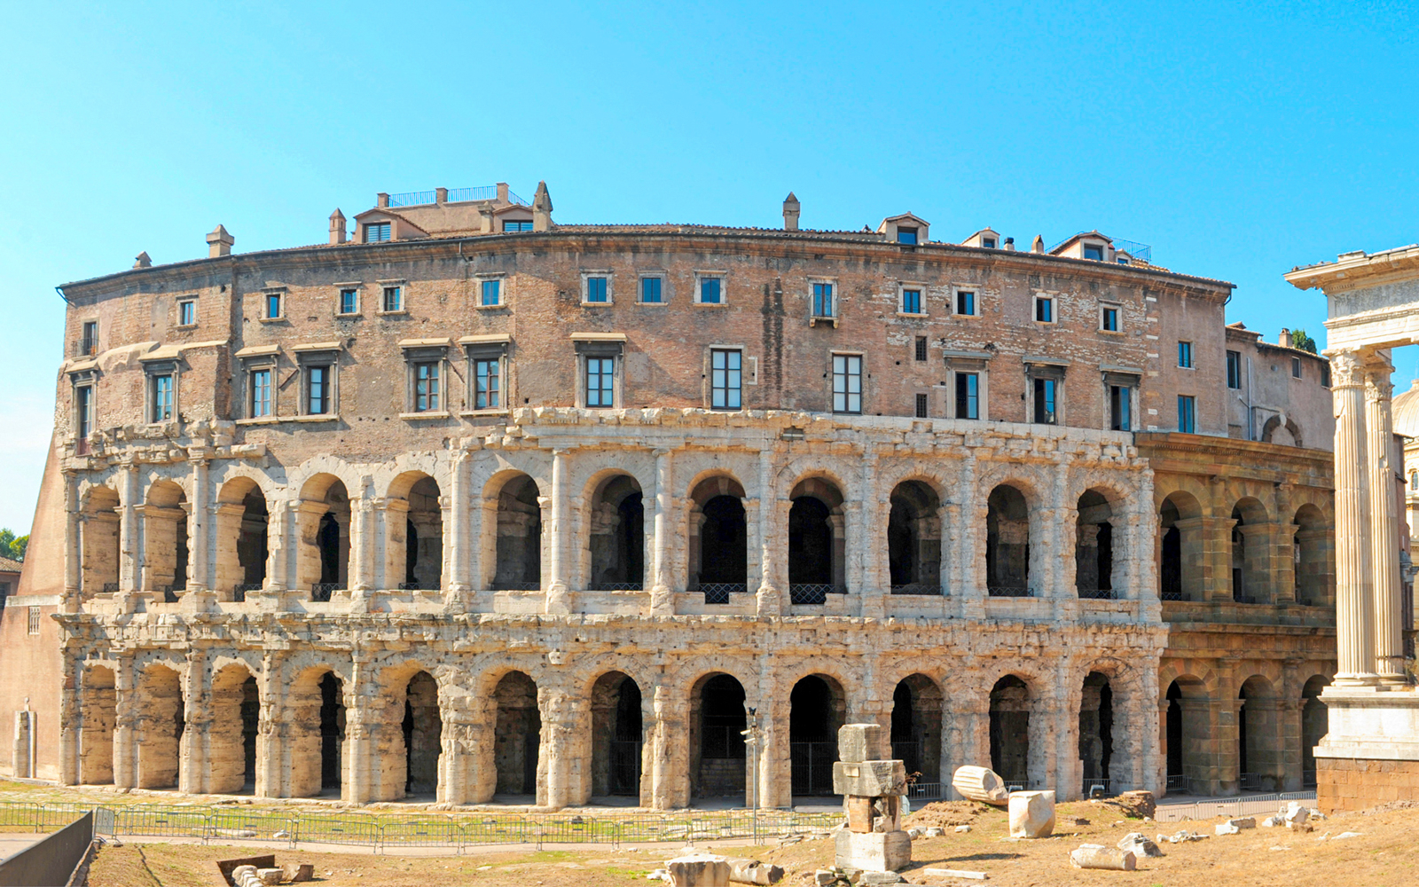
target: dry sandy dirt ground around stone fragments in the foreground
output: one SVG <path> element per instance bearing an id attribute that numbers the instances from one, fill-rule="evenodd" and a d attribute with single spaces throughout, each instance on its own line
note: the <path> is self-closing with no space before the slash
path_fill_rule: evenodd
<path id="1" fill-rule="evenodd" d="M 1080 820 L 1088 820 L 1083 825 Z M 1257 817 L 1260 822 L 1261 817 Z M 1054 837 L 1013 840 L 1003 810 L 965 802 L 931 805 L 910 825 L 941 825 L 945 836 L 918 839 L 912 867 L 904 877 L 915 884 L 978 884 L 979 881 L 928 878 L 924 869 L 985 871 L 988 883 L 1003 886 L 1131 884 L 1135 887 L 1310 887 L 1347 884 L 1388 887 L 1419 884 L 1419 805 L 1366 813 L 1342 813 L 1315 823 L 1310 833 L 1286 829 L 1252 829 L 1227 837 L 1208 837 L 1185 844 L 1162 844 L 1166 856 L 1139 859 L 1138 871 L 1081 871 L 1069 864 L 1069 852 L 1080 843 L 1114 844 L 1128 832 L 1149 837 L 1179 830 L 1213 833 L 1222 819 L 1155 823 L 1122 819 L 1117 810 L 1087 802 L 1064 803 L 1057 810 Z M 949 830 L 969 825 L 969 833 Z M 1342 832 L 1358 837 L 1321 840 Z M 372 856 L 369 853 L 308 853 L 275 850 L 281 863 L 315 864 L 316 884 L 440 887 L 610 887 L 647 884 L 646 874 L 681 849 L 592 847 L 586 850 L 528 852 L 490 849 L 464 857 Z M 105 847 L 94 863 L 94 887 L 211 886 L 223 881 L 214 861 L 260 853 L 251 847 L 125 844 Z M 785 847 L 727 847 L 731 856 L 756 856 L 789 870 L 782 884 L 805 887 L 813 871 L 833 861 L 832 840 L 806 840 Z"/>

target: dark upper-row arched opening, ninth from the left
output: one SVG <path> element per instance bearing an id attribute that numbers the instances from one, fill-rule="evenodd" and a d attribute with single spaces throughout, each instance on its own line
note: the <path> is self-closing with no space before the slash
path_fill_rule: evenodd
<path id="1" fill-rule="evenodd" d="M 843 593 L 843 494 L 827 478 L 799 481 L 789 495 L 789 599 L 824 603 Z"/>

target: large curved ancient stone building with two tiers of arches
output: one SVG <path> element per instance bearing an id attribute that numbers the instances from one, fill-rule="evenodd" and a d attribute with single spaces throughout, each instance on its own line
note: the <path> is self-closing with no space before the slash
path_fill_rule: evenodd
<path id="1" fill-rule="evenodd" d="M 786 805 L 877 721 L 924 783 L 1301 785 L 1330 416 L 1236 433 L 1230 284 L 792 194 L 782 228 L 551 210 L 380 194 L 353 240 L 219 226 L 61 288 L 13 771 L 671 808 L 746 795 L 753 725 Z"/>

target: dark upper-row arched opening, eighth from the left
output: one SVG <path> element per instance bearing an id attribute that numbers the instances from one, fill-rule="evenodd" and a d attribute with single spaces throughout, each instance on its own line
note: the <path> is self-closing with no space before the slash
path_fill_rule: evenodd
<path id="1" fill-rule="evenodd" d="M 729 603 L 748 590 L 749 546 L 744 487 L 727 475 L 708 477 L 690 492 L 690 590 L 705 603 Z"/>

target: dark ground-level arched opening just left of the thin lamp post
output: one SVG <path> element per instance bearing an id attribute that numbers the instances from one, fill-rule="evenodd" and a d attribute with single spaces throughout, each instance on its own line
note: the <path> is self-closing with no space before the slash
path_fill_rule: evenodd
<path id="1" fill-rule="evenodd" d="M 707 674 L 690 694 L 690 789 L 695 798 L 745 795 L 748 727 L 744 685 L 728 674 Z"/>

